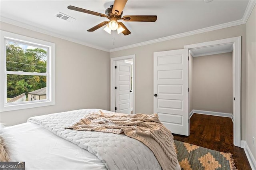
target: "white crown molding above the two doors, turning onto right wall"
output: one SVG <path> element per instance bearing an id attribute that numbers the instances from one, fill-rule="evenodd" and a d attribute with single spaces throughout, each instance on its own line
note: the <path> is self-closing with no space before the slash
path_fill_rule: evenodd
<path id="1" fill-rule="evenodd" d="M 110 52 L 120 51 L 120 50 L 123 50 L 123 49 L 139 47 L 139 46 L 142 46 L 142 45 L 148 45 L 148 44 L 152 44 L 152 43 L 158 43 L 158 42 L 173 40 L 173 39 L 176 39 L 176 38 L 182 38 L 182 37 L 186 37 L 186 36 L 192 36 L 192 35 L 195 35 L 195 34 L 201 34 L 201 33 L 204 33 L 204 32 L 219 30 L 219 29 L 222 29 L 222 28 L 228 28 L 228 27 L 232 27 L 232 26 L 238 26 L 238 25 L 246 24 L 246 22 L 247 22 L 247 20 L 250 16 L 255 4 L 256 4 L 256 0 L 249 0 L 249 2 L 247 4 L 247 7 L 246 7 L 246 10 L 244 12 L 244 16 L 240 20 L 227 22 L 225 24 L 219 24 L 219 25 L 216 25 L 216 26 L 202 28 L 202 29 L 194 30 L 194 31 L 190 31 L 190 32 L 184 32 L 184 33 L 181 33 L 181 34 L 176 34 L 176 35 L 172 35 L 172 36 L 168 36 L 168 37 L 158 38 L 158 39 L 150 40 L 150 41 L 146 41 L 146 42 L 141 42 L 141 43 L 136 43 L 136 44 L 132 44 L 132 45 L 126 45 L 126 46 L 123 46 L 123 47 L 113 48 L 113 49 L 110 49 L 109 51 Z"/>

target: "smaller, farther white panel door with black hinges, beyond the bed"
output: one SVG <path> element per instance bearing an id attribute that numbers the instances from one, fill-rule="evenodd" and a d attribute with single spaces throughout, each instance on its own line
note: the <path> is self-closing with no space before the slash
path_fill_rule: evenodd
<path id="1" fill-rule="evenodd" d="M 132 112 L 131 84 L 132 84 L 132 65 L 116 61 L 115 69 L 115 87 L 116 87 L 116 112 Z"/>

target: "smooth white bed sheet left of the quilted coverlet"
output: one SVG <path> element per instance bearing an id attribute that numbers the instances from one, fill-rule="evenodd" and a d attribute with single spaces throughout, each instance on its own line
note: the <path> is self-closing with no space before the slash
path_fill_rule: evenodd
<path id="1" fill-rule="evenodd" d="M 14 158 L 24 161 L 26 170 L 106 170 L 102 161 L 87 150 L 34 123 L 6 130 L 14 138 Z"/>

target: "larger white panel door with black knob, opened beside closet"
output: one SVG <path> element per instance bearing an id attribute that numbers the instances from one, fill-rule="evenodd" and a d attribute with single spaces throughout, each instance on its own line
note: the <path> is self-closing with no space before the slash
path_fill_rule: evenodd
<path id="1" fill-rule="evenodd" d="M 188 49 L 154 53 L 154 113 L 172 133 L 189 135 Z"/>

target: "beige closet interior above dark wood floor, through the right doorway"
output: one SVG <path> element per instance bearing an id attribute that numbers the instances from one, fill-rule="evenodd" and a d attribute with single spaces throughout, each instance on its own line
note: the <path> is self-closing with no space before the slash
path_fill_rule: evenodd
<path id="1" fill-rule="evenodd" d="M 233 121 L 233 44 L 189 50 L 189 112 Z"/>

